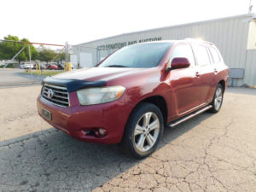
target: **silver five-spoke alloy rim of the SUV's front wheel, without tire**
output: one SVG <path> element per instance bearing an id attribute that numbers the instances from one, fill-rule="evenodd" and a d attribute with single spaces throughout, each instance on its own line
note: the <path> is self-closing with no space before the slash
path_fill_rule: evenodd
<path id="1" fill-rule="evenodd" d="M 135 146 L 138 151 L 146 152 L 153 148 L 160 131 L 160 121 L 153 112 L 144 113 L 138 120 L 133 134 Z"/>

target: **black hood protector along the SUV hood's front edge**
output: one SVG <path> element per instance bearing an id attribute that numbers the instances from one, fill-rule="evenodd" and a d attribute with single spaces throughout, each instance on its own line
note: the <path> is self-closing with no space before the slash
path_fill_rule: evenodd
<path id="1" fill-rule="evenodd" d="M 106 84 L 106 81 L 86 81 L 80 79 L 57 79 L 47 77 L 43 80 L 42 84 L 44 83 L 66 86 L 68 92 L 73 92 L 85 87 L 102 87 Z"/>

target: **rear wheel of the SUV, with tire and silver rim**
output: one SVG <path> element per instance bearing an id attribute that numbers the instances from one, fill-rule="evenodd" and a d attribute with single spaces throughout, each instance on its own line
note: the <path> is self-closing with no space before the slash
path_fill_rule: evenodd
<path id="1" fill-rule="evenodd" d="M 224 96 L 224 88 L 221 84 L 218 84 L 214 92 L 213 100 L 211 102 L 212 108 L 209 109 L 209 112 L 218 113 L 218 111 L 222 106 L 223 96 Z"/>

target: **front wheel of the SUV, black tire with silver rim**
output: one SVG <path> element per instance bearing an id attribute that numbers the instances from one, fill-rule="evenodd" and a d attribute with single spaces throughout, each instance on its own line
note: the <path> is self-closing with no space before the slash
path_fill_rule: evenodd
<path id="1" fill-rule="evenodd" d="M 121 146 L 126 154 L 141 160 L 152 154 L 164 130 L 163 115 L 154 104 L 143 102 L 131 113 Z"/>

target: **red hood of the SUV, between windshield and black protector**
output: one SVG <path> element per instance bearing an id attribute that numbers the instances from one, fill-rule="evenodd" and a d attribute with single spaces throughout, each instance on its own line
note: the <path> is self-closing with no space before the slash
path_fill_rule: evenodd
<path id="1" fill-rule="evenodd" d="M 91 67 L 74 70 L 73 72 L 61 73 L 55 75 L 55 79 L 79 79 L 86 81 L 108 81 L 131 73 L 140 73 L 145 68 L 130 67 Z"/>

